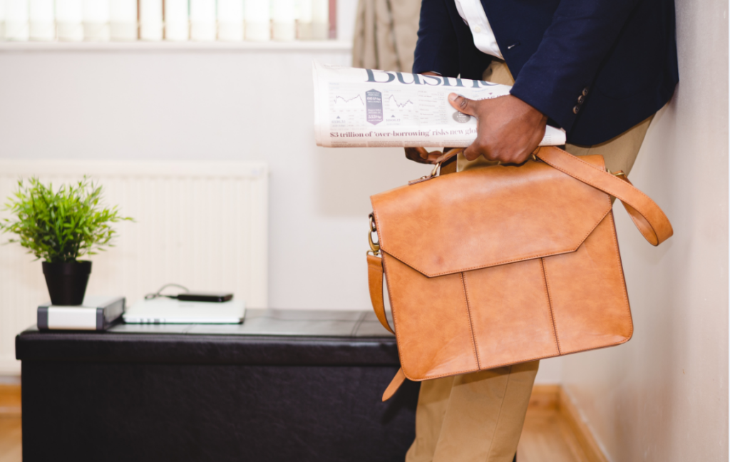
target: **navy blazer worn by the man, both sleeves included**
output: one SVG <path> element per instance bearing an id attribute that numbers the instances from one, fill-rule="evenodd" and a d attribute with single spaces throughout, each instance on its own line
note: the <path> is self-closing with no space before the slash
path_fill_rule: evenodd
<path id="1" fill-rule="evenodd" d="M 569 142 L 607 141 L 674 93 L 673 0 L 481 1 L 515 77 L 512 94 L 565 128 Z M 414 73 L 481 80 L 491 59 L 454 0 L 423 0 Z"/>

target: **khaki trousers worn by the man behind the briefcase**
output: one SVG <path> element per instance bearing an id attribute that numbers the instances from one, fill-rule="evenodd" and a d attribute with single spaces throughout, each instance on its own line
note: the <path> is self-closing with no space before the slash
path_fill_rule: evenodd
<path id="1" fill-rule="evenodd" d="M 513 85 L 504 61 L 495 60 L 483 80 Z M 566 145 L 573 155 L 603 155 L 611 172 L 626 174 L 634 165 L 650 117 L 599 145 Z M 494 162 L 467 161 L 459 154 L 458 171 Z M 512 462 L 525 422 L 539 361 L 473 374 L 426 380 L 420 385 L 415 441 L 406 462 Z"/>

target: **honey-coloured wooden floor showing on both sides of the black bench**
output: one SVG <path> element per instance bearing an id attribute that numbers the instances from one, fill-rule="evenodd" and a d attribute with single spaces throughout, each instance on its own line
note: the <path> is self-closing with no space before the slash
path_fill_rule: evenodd
<path id="1" fill-rule="evenodd" d="M 559 394 L 559 387 L 535 387 L 517 453 L 519 462 L 596 461 L 595 456 L 586 457 L 576 434 L 575 423 L 571 422 L 569 413 L 561 409 Z M 10 406 L 2 407 L 2 395 L 0 387 L 0 462 L 20 462 L 23 458 L 20 412 L 15 407 L 15 401 Z M 19 401 L 18 393 L 18 406 Z"/>

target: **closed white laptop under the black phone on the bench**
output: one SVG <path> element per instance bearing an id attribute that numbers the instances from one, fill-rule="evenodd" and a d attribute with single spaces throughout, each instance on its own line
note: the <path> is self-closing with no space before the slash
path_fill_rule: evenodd
<path id="1" fill-rule="evenodd" d="M 246 312 L 239 300 L 177 301 L 158 298 L 141 300 L 124 313 L 128 324 L 240 324 Z"/>

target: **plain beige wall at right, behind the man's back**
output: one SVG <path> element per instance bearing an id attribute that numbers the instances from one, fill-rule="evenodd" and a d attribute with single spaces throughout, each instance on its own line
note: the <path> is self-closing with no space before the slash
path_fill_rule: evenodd
<path id="1" fill-rule="evenodd" d="M 563 363 L 614 462 L 728 460 L 727 9 L 677 0 L 681 82 L 631 172 L 675 236 L 651 247 L 615 207 L 634 339 Z"/>

